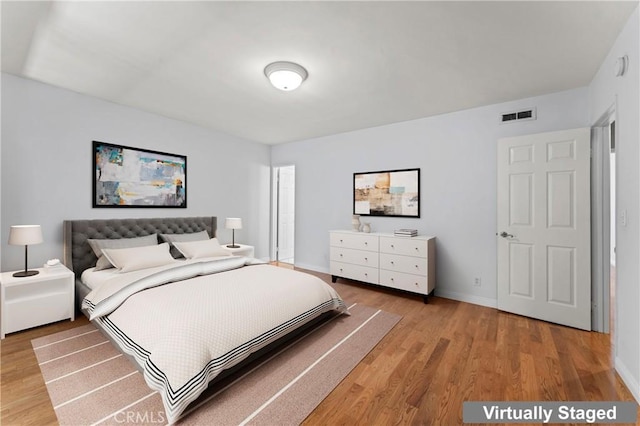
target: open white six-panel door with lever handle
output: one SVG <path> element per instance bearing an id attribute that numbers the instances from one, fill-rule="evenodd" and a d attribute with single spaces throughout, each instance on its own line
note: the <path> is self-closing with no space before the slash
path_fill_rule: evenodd
<path id="1" fill-rule="evenodd" d="M 590 130 L 498 141 L 498 309 L 591 329 Z"/>

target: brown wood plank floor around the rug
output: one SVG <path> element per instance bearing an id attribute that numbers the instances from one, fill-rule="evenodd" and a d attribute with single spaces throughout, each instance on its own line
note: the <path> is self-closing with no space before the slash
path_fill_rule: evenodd
<path id="1" fill-rule="evenodd" d="M 463 401 L 634 401 L 613 370 L 609 335 L 438 297 L 425 305 L 344 280 L 332 285 L 349 304 L 403 318 L 305 425 L 456 425 Z M 30 341 L 86 323 L 78 316 L 2 341 L 2 425 L 57 424 Z"/>

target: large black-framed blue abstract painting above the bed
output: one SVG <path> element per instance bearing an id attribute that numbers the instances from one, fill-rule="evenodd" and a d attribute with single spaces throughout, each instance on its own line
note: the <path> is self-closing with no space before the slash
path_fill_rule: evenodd
<path id="1" fill-rule="evenodd" d="M 93 181 L 93 207 L 187 207 L 185 155 L 93 141 Z"/>

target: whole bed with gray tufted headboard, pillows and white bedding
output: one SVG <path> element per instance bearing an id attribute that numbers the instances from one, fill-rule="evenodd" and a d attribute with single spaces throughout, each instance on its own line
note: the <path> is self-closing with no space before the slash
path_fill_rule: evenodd
<path id="1" fill-rule="evenodd" d="M 348 313 L 315 276 L 229 255 L 215 217 L 63 228 L 79 309 L 160 393 L 170 423 L 225 372 L 323 316 Z"/>

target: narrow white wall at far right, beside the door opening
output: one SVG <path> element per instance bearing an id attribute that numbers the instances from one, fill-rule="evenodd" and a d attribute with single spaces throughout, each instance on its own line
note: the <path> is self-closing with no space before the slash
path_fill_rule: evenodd
<path id="1" fill-rule="evenodd" d="M 618 212 L 616 229 L 615 365 L 640 401 L 640 15 L 638 8 L 618 36 L 589 86 L 589 120 L 616 109 Z M 614 65 L 628 55 L 629 69 L 615 77 Z M 626 211 L 627 224 L 621 220 Z"/>

